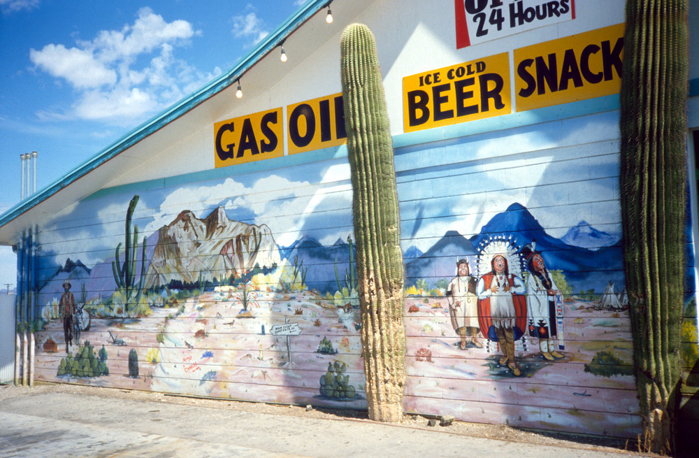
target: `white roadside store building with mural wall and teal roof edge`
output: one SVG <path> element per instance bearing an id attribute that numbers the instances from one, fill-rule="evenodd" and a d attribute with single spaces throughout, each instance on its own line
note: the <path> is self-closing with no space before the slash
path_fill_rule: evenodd
<path id="1" fill-rule="evenodd" d="M 307 2 L 234 69 L 0 217 L 0 243 L 20 253 L 20 320 L 45 321 L 36 378 L 366 407 L 339 71 L 340 34 L 362 22 L 377 40 L 401 201 L 405 410 L 635 438 L 624 1 L 335 0 L 331 24 L 327 3 Z M 280 62 L 282 50 L 293 58 Z M 535 254 L 544 278 L 529 271 Z M 487 316 L 462 338 L 447 298 L 457 262 L 484 282 L 496 255 L 521 282 L 509 359 Z M 90 316 L 69 356 L 66 281 Z M 475 289 L 484 306 L 487 286 Z"/>

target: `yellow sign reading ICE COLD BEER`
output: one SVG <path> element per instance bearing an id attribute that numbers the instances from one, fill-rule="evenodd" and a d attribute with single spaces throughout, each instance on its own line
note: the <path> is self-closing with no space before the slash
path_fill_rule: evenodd
<path id="1" fill-rule="evenodd" d="M 403 78 L 403 129 L 447 126 L 510 113 L 507 52 Z"/>

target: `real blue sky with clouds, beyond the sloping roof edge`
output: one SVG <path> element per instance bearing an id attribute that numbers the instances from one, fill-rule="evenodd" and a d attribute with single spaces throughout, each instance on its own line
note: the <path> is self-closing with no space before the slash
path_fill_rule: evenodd
<path id="1" fill-rule="evenodd" d="M 305 0 L 0 0 L 0 213 L 228 70 Z M 15 283 L 0 248 L 0 287 Z M 10 286 L 12 288 L 12 286 Z"/>

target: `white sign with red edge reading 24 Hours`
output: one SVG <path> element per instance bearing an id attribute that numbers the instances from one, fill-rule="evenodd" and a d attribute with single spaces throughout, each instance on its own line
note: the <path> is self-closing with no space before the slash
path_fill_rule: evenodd
<path id="1" fill-rule="evenodd" d="M 456 49 L 575 19 L 575 0 L 454 0 Z"/>

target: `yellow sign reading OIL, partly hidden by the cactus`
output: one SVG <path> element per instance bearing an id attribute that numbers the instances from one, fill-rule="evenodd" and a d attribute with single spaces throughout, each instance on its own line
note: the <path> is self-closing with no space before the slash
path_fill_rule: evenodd
<path id="1" fill-rule="evenodd" d="M 287 106 L 287 138 L 290 155 L 347 142 L 343 94 Z"/>

